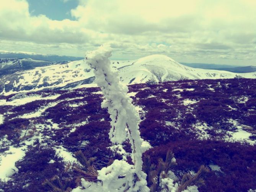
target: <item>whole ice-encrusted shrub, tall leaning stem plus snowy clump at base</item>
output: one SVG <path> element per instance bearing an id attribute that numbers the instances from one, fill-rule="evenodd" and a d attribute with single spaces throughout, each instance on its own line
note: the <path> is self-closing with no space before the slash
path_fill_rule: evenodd
<path id="1" fill-rule="evenodd" d="M 107 168 L 98 171 L 98 180 L 101 182 L 88 184 L 82 180 L 86 189 L 92 190 L 130 190 L 149 191 L 146 174 L 142 171 L 142 138 L 139 132 L 139 115 L 132 104 L 132 99 L 127 95 L 128 87 L 122 85 L 117 71 L 110 67 L 109 57 L 111 49 L 101 46 L 99 49 L 86 54 L 86 62 L 93 69 L 95 82 L 101 88 L 104 101 L 101 106 L 108 108 L 111 118 L 109 138 L 114 145 L 122 145 L 127 139 L 132 148 L 132 162 L 130 165 L 125 160 L 115 160 Z M 85 178 L 86 179 L 86 178 Z"/>

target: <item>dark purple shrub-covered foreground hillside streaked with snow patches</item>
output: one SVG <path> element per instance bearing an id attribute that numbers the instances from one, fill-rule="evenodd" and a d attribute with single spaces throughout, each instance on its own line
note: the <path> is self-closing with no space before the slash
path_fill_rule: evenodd
<path id="1" fill-rule="evenodd" d="M 165 160 L 170 149 L 177 162 L 173 178 L 193 175 L 201 165 L 210 169 L 199 191 L 256 189 L 256 80 L 135 84 L 128 94 L 140 114 L 141 136 L 152 146 L 144 154 L 152 163 Z M 0 189 L 47 191 L 42 183 L 55 175 L 75 188 L 71 165 L 79 150 L 95 158 L 97 169 L 122 158 L 109 148 L 102 101 L 97 87 L 0 96 L 0 179 L 10 179 Z M 125 150 L 129 161 L 130 146 Z"/>

